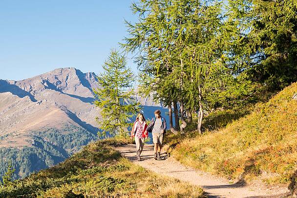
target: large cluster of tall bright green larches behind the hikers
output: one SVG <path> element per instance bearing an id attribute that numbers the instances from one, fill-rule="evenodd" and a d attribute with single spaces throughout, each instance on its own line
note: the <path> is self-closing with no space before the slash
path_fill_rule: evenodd
<path id="1" fill-rule="evenodd" d="M 181 132 L 186 111 L 198 114 L 201 132 L 204 112 L 218 104 L 219 92 L 232 88 L 236 78 L 226 64 L 233 42 L 233 35 L 226 32 L 233 30 L 225 29 L 222 2 L 140 0 L 132 4 L 139 22 L 127 22 L 129 37 L 123 46 L 137 53 L 138 66 L 150 77 L 147 88 L 170 106 L 179 103 Z"/>

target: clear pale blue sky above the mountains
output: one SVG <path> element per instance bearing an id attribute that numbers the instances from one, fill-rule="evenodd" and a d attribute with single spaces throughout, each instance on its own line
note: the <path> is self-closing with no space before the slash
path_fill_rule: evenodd
<path id="1" fill-rule="evenodd" d="M 0 0 L 0 79 L 59 67 L 99 73 L 136 21 L 132 0 Z M 128 65 L 136 71 L 135 64 Z"/>

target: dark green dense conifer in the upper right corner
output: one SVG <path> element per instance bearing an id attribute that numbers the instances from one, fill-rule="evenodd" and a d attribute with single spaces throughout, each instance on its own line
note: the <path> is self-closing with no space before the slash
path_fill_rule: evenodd
<path id="1" fill-rule="evenodd" d="M 249 75 L 270 89 L 297 81 L 297 1 L 253 0 L 248 34 L 255 65 Z"/>

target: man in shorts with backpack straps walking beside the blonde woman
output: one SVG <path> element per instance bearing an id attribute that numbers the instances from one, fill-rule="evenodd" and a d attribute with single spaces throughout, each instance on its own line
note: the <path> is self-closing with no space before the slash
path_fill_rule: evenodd
<path id="1" fill-rule="evenodd" d="M 148 132 L 152 133 L 152 142 L 154 144 L 154 159 L 161 159 L 161 149 L 164 134 L 166 133 L 166 120 L 161 116 L 160 110 L 155 110 L 155 117 L 151 119 L 148 125 Z"/>

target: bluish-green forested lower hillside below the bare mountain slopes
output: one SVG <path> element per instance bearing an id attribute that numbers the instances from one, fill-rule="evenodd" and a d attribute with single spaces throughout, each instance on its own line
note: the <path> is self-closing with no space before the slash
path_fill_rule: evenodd
<path id="1" fill-rule="evenodd" d="M 29 132 L 31 146 L 0 148 L 0 175 L 7 171 L 8 162 L 16 169 L 13 179 L 24 178 L 30 173 L 51 167 L 79 151 L 82 146 L 97 140 L 97 134 L 68 124 L 62 129 L 49 128 Z"/>

